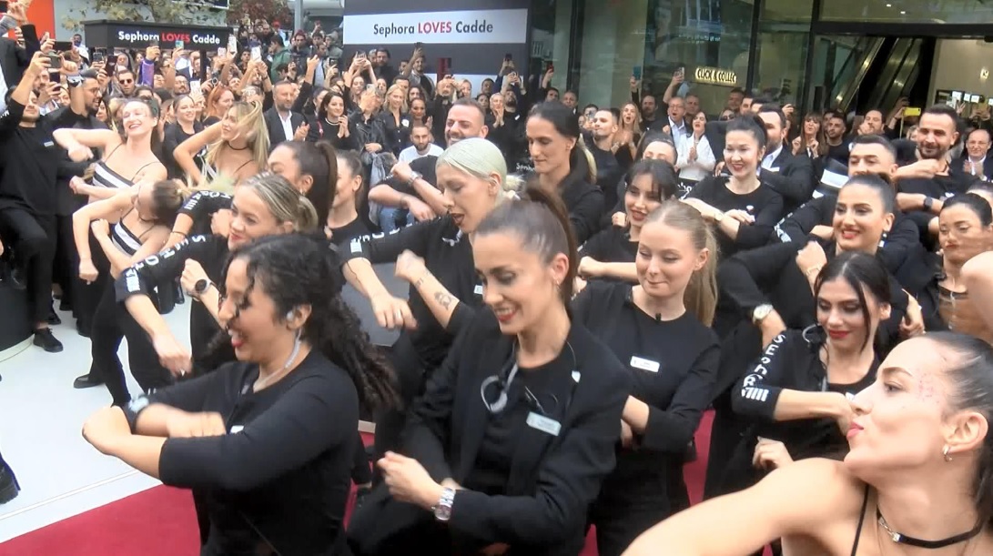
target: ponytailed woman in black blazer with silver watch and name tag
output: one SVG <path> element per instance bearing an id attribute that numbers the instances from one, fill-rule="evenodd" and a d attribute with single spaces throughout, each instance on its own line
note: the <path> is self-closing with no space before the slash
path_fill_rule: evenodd
<path id="1" fill-rule="evenodd" d="M 462 145 L 459 142 L 456 146 Z M 575 239 L 544 190 L 494 209 L 473 255 L 476 312 L 411 410 L 404 455 L 355 512 L 358 554 L 578 554 L 614 468 L 629 380 L 567 310 Z"/>

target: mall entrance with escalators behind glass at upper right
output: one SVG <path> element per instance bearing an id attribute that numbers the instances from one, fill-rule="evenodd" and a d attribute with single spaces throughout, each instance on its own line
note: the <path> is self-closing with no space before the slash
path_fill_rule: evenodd
<path id="1" fill-rule="evenodd" d="M 936 23 L 936 22 L 935 22 Z M 953 99 L 989 110 L 993 25 L 821 23 L 812 26 L 806 104 L 865 113 Z M 980 108 L 980 106 L 982 108 Z"/>

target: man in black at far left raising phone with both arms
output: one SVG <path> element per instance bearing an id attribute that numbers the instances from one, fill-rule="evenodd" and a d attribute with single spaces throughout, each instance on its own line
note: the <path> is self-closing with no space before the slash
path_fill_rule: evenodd
<path id="1" fill-rule="evenodd" d="M 73 109 L 62 114 L 60 120 L 39 114 L 33 85 L 49 65 L 46 54 L 35 53 L 10 95 L 7 111 L 0 116 L 0 167 L 4 170 L 0 178 L 0 236 L 13 243 L 15 272 L 27 278 L 35 345 L 58 352 L 63 346 L 48 324 L 58 205 L 58 165 L 51 163 L 58 159 L 58 147 L 52 131 L 73 125 L 85 109 L 78 90 L 81 79 L 71 75 Z M 75 65 L 64 62 L 63 70 L 71 74 Z"/>

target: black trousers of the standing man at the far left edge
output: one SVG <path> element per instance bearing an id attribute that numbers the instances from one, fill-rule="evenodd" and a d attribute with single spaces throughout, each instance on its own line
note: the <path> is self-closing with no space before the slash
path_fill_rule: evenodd
<path id="1" fill-rule="evenodd" d="M 52 310 L 56 217 L 15 207 L 0 209 L 0 237 L 14 248 L 14 264 L 26 271 L 32 327 L 48 322 Z"/>

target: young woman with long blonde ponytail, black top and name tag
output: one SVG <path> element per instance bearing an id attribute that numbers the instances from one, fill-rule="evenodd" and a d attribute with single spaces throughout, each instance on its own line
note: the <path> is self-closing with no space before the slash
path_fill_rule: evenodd
<path id="1" fill-rule="evenodd" d="M 717 241 L 700 214 L 669 201 L 648 214 L 638 285 L 595 282 L 573 301 L 577 322 L 628 365 L 617 467 L 591 508 L 602 556 L 620 555 L 654 523 L 689 507 L 682 466 L 710 404 L 720 347 Z"/>

